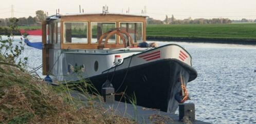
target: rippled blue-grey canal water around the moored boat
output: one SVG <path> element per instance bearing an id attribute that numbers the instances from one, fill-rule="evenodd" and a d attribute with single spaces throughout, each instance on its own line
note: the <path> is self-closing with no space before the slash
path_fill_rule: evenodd
<path id="1" fill-rule="evenodd" d="M 41 41 L 40 36 L 29 38 L 32 42 Z M 16 43 L 21 40 L 20 36 L 14 39 Z M 178 44 L 191 54 L 198 77 L 187 86 L 192 99 L 188 102 L 195 104 L 196 119 L 211 123 L 256 123 L 256 46 L 157 43 Z M 41 50 L 25 46 L 22 57 L 28 57 L 29 70 L 42 64 Z M 42 75 L 42 69 L 38 73 Z"/>

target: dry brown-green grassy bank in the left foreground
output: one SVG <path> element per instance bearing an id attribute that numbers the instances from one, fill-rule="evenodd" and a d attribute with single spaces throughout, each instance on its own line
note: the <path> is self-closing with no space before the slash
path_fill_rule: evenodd
<path id="1" fill-rule="evenodd" d="M 48 86 L 1 56 L 0 78 L 0 123 L 135 123 L 106 112 L 93 97 L 86 106 L 65 86 Z"/>

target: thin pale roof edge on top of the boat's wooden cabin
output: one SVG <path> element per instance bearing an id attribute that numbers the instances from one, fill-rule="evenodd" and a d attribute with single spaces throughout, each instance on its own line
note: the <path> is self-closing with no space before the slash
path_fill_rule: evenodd
<path id="1" fill-rule="evenodd" d="M 57 14 L 47 17 L 47 20 L 58 19 L 65 16 L 83 16 L 83 15 L 124 15 L 124 16 L 137 16 L 137 17 L 148 17 L 147 15 L 130 14 L 130 13 L 67 13 L 67 14 Z"/>

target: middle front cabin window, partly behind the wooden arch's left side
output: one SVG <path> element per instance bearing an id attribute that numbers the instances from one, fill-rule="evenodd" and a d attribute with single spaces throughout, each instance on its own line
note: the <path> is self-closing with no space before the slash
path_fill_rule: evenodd
<path id="1" fill-rule="evenodd" d="M 110 31 L 112 29 L 116 28 L 116 23 L 101 23 L 101 22 L 92 22 L 90 23 L 91 26 L 91 44 L 98 44 L 100 36 L 107 31 Z M 105 37 L 102 40 L 102 44 L 105 44 Z M 111 36 L 107 40 L 107 44 L 116 44 L 116 35 Z"/>

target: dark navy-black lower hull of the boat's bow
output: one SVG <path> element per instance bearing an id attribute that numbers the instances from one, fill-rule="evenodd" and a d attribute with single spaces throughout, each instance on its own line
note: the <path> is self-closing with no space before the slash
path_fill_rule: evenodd
<path id="1" fill-rule="evenodd" d="M 125 73 L 127 75 L 123 81 Z M 114 74 L 113 87 L 117 93 L 125 91 L 126 97 L 126 99 L 121 99 L 121 95 L 116 95 L 116 100 L 129 102 L 127 98 L 135 95 L 138 106 L 160 109 L 164 112 L 175 112 L 178 102 L 174 99 L 174 95 L 180 91 L 180 82 L 178 82 L 180 73 L 185 76 L 186 84 L 197 76 L 193 68 L 177 59 L 162 59 L 89 79 L 100 92 L 102 84 L 107 78 L 111 80 Z M 117 91 L 119 87 L 120 89 Z"/>

